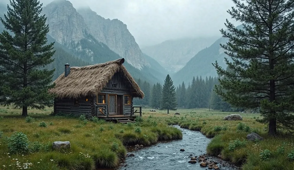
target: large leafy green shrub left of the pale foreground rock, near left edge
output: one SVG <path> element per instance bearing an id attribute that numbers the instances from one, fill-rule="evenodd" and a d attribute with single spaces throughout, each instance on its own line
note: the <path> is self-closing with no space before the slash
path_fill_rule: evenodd
<path id="1" fill-rule="evenodd" d="M 8 138 L 8 148 L 10 153 L 28 153 L 29 139 L 22 132 L 14 132 L 14 134 Z"/>

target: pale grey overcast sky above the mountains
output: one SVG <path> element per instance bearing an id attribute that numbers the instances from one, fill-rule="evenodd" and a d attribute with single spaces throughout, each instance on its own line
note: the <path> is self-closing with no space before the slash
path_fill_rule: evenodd
<path id="1" fill-rule="evenodd" d="M 0 0 L 9 2 L 9 0 Z M 44 5 L 52 0 L 40 0 Z M 231 0 L 70 0 L 75 8 L 90 6 L 98 15 L 119 19 L 140 47 L 168 39 L 221 36 Z"/>

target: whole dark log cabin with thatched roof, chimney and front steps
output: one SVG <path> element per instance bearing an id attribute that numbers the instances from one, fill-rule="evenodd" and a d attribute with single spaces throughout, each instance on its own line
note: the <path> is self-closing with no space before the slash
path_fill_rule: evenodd
<path id="1" fill-rule="evenodd" d="M 65 64 L 49 90 L 55 95 L 54 114 L 84 114 L 122 123 L 142 116 L 142 107 L 133 106 L 133 98 L 143 98 L 144 93 L 123 63 L 122 58 L 83 67 Z"/>

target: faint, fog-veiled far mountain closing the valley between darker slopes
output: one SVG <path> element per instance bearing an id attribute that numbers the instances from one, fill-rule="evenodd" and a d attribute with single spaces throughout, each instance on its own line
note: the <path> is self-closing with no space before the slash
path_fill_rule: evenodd
<path id="1" fill-rule="evenodd" d="M 142 48 L 143 53 L 153 57 L 168 72 L 182 69 L 198 51 L 210 46 L 218 37 L 198 37 L 167 40 L 161 44 Z"/>

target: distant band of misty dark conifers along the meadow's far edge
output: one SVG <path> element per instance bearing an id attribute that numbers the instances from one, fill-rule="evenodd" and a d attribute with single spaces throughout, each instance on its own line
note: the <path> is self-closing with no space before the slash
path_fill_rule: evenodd
<path id="1" fill-rule="evenodd" d="M 141 79 L 137 79 L 136 82 L 144 92 L 145 97 L 143 99 L 135 98 L 133 100 L 134 105 L 163 109 L 163 86 L 160 83 L 151 86 L 150 83 L 147 81 L 143 82 Z M 206 78 L 203 79 L 202 76 L 196 76 L 196 78 L 193 77 L 191 82 L 192 83 L 189 83 L 188 86 L 183 82 L 176 87 L 176 101 L 173 104 L 174 108 L 211 108 L 220 111 L 243 111 L 243 109 L 231 107 L 230 104 L 225 102 L 213 91 L 214 86 L 219 83 L 217 77 L 206 76 Z M 173 86 L 173 84 L 171 84 L 171 86 Z"/>

